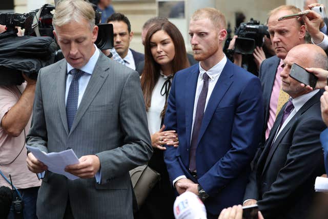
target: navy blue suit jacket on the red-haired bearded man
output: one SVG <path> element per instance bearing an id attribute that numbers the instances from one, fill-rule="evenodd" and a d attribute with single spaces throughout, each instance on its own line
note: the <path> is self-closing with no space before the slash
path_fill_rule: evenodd
<path id="1" fill-rule="evenodd" d="M 197 176 L 189 173 L 189 149 L 199 64 L 175 74 L 164 124 L 176 130 L 179 147 L 167 147 L 165 162 L 171 182 L 186 175 L 210 195 L 207 211 L 241 204 L 250 162 L 263 124 L 262 92 L 258 77 L 229 60 L 204 112 L 196 150 Z"/>

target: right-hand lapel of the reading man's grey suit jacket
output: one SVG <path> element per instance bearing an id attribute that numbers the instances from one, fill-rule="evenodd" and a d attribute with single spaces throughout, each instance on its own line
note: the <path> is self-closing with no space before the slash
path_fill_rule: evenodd
<path id="1" fill-rule="evenodd" d="M 75 129 L 78 122 L 81 120 L 82 116 L 87 111 L 88 107 L 93 101 L 94 97 L 100 90 L 101 86 L 103 86 L 104 82 L 106 81 L 106 78 L 109 74 L 108 70 L 109 70 L 109 61 L 107 60 L 107 57 L 102 52 L 100 52 L 98 61 L 92 72 L 86 91 L 77 109 L 74 122 L 71 127 L 71 132 Z"/>

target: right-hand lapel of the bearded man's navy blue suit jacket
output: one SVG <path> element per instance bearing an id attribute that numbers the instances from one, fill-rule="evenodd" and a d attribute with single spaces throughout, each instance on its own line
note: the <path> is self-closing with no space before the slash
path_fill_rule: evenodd
<path id="1" fill-rule="evenodd" d="M 233 64 L 229 60 L 227 60 L 227 63 L 224 66 L 221 75 L 214 86 L 206 110 L 204 112 L 204 116 L 200 126 L 197 145 L 199 144 L 201 137 L 203 136 L 206 128 L 211 122 L 215 109 L 217 108 L 224 94 L 226 94 L 229 87 L 233 83 L 232 76 L 233 76 Z"/>

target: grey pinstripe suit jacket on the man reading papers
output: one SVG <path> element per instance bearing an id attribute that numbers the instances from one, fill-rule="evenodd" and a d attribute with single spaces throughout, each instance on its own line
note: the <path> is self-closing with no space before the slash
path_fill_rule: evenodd
<path id="1" fill-rule="evenodd" d="M 75 218 L 133 218 L 129 170 L 152 154 L 139 76 L 100 52 L 71 131 L 68 131 L 65 59 L 39 71 L 27 144 L 45 152 L 72 148 L 77 157 L 99 157 L 95 178 L 68 180 L 46 171 L 37 216 L 63 218 L 67 200 Z"/>

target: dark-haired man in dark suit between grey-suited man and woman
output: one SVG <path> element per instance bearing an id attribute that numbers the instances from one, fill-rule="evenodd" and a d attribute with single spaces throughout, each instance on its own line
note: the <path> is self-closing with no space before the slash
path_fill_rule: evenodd
<path id="1" fill-rule="evenodd" d="M 113 13 L 107 18 L 107 24 L 113 25 L 116 52 L 124 60 L 125 66 L 136 70 L 139 63 L 145 60 L 145 55 L 129 48 L 133 32 L 128 17 L 121 13 Z"/>

